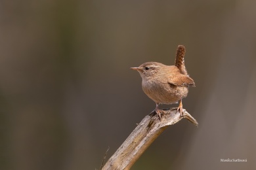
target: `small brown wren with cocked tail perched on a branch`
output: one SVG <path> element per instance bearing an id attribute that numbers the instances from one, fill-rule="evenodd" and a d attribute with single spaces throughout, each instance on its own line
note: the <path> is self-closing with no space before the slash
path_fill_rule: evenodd
<path id="1" fill-rule="evenodd" d="M 137 70 L 142 77 L 142 90 L 150 99 L 156 102 L 155 112 L 161 119 L 160 104 L 173 104 L 180 100 L 177 110 L 182 116 L 182 98 L 188 94 L 188 87 L 194 86 L 192 78 L 188 76 L 184 64 L 185 48 L 179 45 L 175 59 L 175 65 L 163 65 L 157 62 L 143 63 L 139 67 L 131 67 Z"/>

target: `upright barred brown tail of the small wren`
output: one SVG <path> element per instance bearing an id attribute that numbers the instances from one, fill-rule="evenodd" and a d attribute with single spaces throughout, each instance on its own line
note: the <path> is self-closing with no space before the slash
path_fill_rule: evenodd
<path id="1" fill-rule="evenodd" d="M 178 67 L 178 69 L 181 71 L 183 75 L 188 75 L 188 72 L 186 72 L 184 61 L 185 52 L 185 47 L 179 45 L 176 52 L 175 66 Z"/>

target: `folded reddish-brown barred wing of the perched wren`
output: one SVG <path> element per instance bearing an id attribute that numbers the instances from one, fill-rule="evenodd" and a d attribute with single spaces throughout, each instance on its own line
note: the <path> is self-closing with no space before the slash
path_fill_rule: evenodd
<path id="1" fill-rule="evenodd" d="M 175 86 L 193 86 L 196 87 L 196 84 L 192 78 L 186 75 L 182 75 L 181 73 L 178 75 L 170 75 L 167 79 L 169 84 L 173 84 Z"/>

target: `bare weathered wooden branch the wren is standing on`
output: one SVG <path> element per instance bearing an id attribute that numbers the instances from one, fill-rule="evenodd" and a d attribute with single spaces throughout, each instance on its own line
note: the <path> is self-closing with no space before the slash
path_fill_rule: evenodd
<path id="1" fill-rule="evenodd" d="M 129 137 L 117 149 L 114 155 L 106 162 L 106 169 L 130 169 L 150 144 L 170 125 L 176 124 L 182 118 L 188 119 L 192 124 L 198 126 L 198 122 L 183 109 L 183 115 L 175 109 L 164 109 L 161 121 L 152 112 L 146 116 L 133 130 Z"/>

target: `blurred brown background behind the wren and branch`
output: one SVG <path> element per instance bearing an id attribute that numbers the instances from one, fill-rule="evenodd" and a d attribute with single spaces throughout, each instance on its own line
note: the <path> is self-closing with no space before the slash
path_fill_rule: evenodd
<path id="1" fill-rule="evenodd" d="M 255 169 L 255 7 L 1 1 L 0 169 L 99 169 L 155 108 L 129 67 L 173 65 L 179 44 L 196 82 L 183 106 L 200 126 L 169 127 L 132 169 Z"/>

